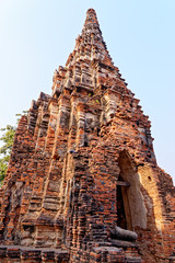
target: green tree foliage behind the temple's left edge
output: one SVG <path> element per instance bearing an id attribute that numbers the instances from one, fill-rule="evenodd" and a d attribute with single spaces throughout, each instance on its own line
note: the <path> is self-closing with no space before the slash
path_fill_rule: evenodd
<path id="1" fill-rule="evenodd" d="M 0 147 L 0 184 L 1 184 L 8 169 L 8 163 L 9 163 L 10 153 L 12 150 L 13 139 L 15 134 L 15 127 L 11 125 L 7 125 L 5 128 L 1 128 L 0 130 L 3 132 L 2 136 L 0 137 L 0 140 L 3 144 Z"/>

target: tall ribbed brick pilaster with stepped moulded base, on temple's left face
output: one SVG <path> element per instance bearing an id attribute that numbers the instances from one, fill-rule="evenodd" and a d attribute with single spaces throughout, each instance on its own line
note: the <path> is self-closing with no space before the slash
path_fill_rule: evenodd
<path id="1" fill-rule="evenodd" d="M 43 99 L 34 130 L 34 137 L 38 134 L 34 155 L 37 169 L 30 207 L 22 220 L 22 244 L 57 247 L 60 245 L 61 238 L 57 237 L 60 236 L 60 230 L 56 229 L 55 217 L 60 206 L 59 188 L 67 151 L 68 98 L 47 98 L 47 103 Z M 59 225 L 62 228 L 61 220 Z"/>

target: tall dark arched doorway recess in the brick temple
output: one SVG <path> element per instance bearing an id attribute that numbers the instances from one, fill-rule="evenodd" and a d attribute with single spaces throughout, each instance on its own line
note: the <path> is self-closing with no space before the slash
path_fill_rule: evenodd
<path id="1" fill-rule="evenodd" d="M 124 150 L 118 158 L 120 173 L 117 181 L 117 225 L 135 230 L 147 228 L 147 208 L 140 191 L 137 167 L 131 162 L 129 153 Z"/>

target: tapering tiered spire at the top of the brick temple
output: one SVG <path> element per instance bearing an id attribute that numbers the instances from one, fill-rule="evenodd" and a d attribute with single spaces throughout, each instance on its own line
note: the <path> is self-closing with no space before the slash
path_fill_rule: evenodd
<path id="1" fill-rule="evenodd" d="M 106 81 L 105 75 L 101 72 L 102 67 L 113 68 L 110 77 L 119 78 L 118 69 L 114 66 L 103 39 L 95 10 L 89 9 L 82 32 L 75 39 L 75 47 L 69 55 L 66 67 L 59 67 L 55 71 L 52 94 L 60 94 L 63 87 L 78 84 L 95 89 Z"/>

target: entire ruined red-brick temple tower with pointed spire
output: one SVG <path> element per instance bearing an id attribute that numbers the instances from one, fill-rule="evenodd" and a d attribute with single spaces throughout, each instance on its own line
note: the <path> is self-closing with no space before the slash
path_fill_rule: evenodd
<path id="1" fill-rule="evenodd" d="M 0 193 L 0 262 L 175 262 L 175 188 L 93 9 L 32 102 Z"/>

